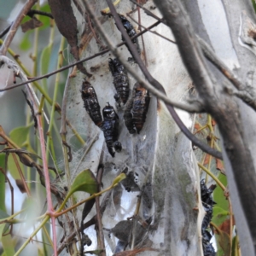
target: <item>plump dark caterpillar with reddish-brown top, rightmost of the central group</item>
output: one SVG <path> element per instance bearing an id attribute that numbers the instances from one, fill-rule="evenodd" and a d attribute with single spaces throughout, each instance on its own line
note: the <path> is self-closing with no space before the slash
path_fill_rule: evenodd
<path id="1" fill-rule="evenodd" d="M 125 105 L 125 125 L 132 134 L 143 129 L 150 102 L 149 91 L 141 84 L 134 84 L 131 99 Z"/>

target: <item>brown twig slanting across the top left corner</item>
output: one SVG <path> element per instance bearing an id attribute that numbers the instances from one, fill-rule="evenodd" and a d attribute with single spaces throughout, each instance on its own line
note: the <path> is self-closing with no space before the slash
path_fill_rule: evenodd
<path id="1" fill-rule="evenodd" d="M 3 41 L 2 47 L 0 49 L 0 55 L 6 55 L 7 49 L 11 44 L 13 38 L 15 37 L 15 33 L 20 26 L 21 20 L 23 20 L 24 16 L 27 12 L 32 8 L 32 6 L 37 2 L 37 0 L 27 0 L 23 8 L 20 10 L 19 15 L 17 15 L 14 23 L 10 27 L 9 33 Z"/>

